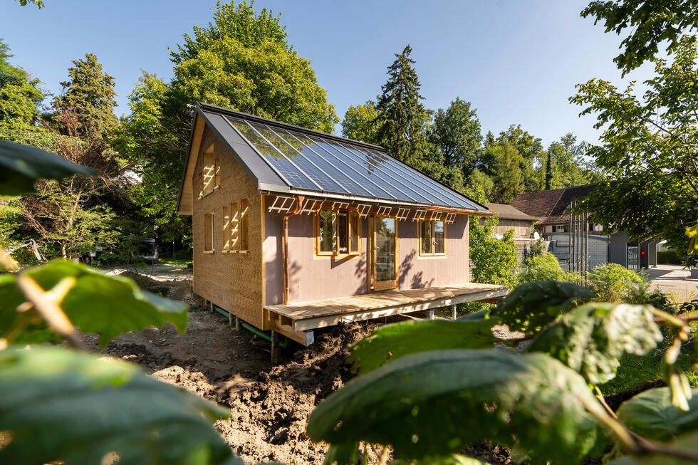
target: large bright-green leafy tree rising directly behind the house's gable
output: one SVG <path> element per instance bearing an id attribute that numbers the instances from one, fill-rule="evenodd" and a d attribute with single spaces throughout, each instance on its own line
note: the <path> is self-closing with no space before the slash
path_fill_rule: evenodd
<path id="1" fill-rule="evenodd" d="M 280 15 L 253 6 L 219 2 L 212 23 L 172 51 L 170 83 L 144 73 L 130 95 L 117 147 L 142 175 L 135 199 L 168 240 L 190 227 L 176 212 L 192 124 L 187 105 L 200 100 L 325 132 L 339 122 L 310 61 L 286 41 Z"/>

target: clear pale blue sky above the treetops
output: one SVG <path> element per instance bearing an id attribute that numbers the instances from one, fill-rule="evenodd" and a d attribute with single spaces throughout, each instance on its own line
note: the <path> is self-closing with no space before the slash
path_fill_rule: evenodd
<path id="1" fill-rule="evenodd" d="M 22 66 L 59 93 L 71 60 L 95 53 L 116 80 L 118 108 L 141 69 L 172 77 L 168 48 L 212 19 L 215 0 L 44 0 L 46 7 L 0 0 L 0 38 Z M 521 124 L 548 145 L 566 132 L 596 142 L 595 119 L 570 105 L 575 83 L 623 83 L 612 61 L 620 38 L 579 12 L 588 0 L 258 0 L 281 12 L 288 40 L 313 61 L 318 82 L 343 116 L 380 93 L 393 53 L 405 44 L 420 75 L 424 105 L 469 100 L 483 134 Z M 644 80 L 651 67 L 629 78 Z M 337 132 L 340 126 L 337 126 Z"/>

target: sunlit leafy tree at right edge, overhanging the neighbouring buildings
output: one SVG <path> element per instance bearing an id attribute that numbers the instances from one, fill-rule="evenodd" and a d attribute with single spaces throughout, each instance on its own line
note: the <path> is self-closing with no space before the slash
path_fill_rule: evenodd
<path id="1" fill-rule="evenodd" d="M 578 85 L 573 103 L 605 127 L 601 144 L 590 148 L 604 174 L 583 207 L 595 221 L 635 238 L 661 236 L 685 251 L 684 227 L 698 217 L 698 48 L 684 36 L 672 63 L 655 58 L 655 77 L 637 97 L 630 83 L 619 90 L 605 80 Z"/>

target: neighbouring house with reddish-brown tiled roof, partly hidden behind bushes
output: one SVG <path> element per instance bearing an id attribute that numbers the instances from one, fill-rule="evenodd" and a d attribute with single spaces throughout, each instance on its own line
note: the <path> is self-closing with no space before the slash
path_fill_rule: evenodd
<path id="1" fill-rule="evenodd" d="M 561 264 L 566 265 L 570 255 L 571 239 L 569 208 L 573 201 L 590 195 L 595 187 L 595 184 L 588 184 L 526 192 L 514 197 L 511 206 L 538 219 L 535 228 L 546 241 L 550 242 L 548 251 L 555 255 Z M 639 243 L 632 242 L 623 231 L 614 231 L 610 235 L 605 235 L 603 227 L 594 224 L 593 221 L 588 221 L 577 229 L 588 237 L 585 251 L 589 270 L 603 263 L 618 263 L 635 270 L 657 265 L 658 240 L 648 238 Z"/>

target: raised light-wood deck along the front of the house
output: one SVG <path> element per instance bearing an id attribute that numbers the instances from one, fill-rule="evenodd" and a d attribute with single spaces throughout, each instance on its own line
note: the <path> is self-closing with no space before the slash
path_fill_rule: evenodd
<path id="1" fill-rule="evenodd" d="M 384 291 L 362 296 L 267 305 L 267 318 L 276 330 L 298 342 L 313 342 L 312 330 L 341 322 L 363 321 L 475 301 L 496 301 L 509 293 L 507 286 L 467 283 L 405 291 Z"/>

